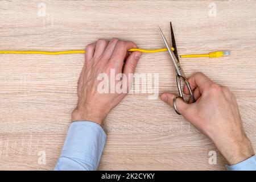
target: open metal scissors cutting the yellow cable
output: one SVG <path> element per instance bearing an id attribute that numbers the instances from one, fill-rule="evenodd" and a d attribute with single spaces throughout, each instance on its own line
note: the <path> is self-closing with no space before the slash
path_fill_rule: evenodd
<path id="1" fill-rule="evenodd" d="M 185 73 L 183 72 L 183 69 L 180 66 L 179 55 L 177 53 L 177 47 L 176 47 L 175 38 L 174 38 L 174 31 L 172 30 L 172 23 L 171 22 L 170 22 L 170 26 L 171 26 L 171 42 L 172 42 L 171 48 L 168 46 L 167 39 L 163 35 L 163 32 L 162 32 L 161 28 L 159 26 L 158 26 L 158 28 L 159 28 L 159 32 L 162 36 L 163 42 L 166 45 L 167 51 L 168 51 L 168 53 L 171 57 L 172 63 L 174 63 L 176 83 L 177 83 L 177 89 L 179 91 L 179 96 L 176 96 L 174 98 L 173 102 L 174 102 L 174 110 L 176 111 L 177 114 L 180 114 L 179 111 L 177 110 L 176 100 L 177 100 L 177 98 L 181 98 L 184 101 L 183 93 L 182 93 L 182 89 L 181 89 L 181 78 L 184 80 L 184 82 L 185 82 L 185 84 L 188 88 L 191 100 L 193 102 L 195 102 L 195 98 L 193 96 L 191 86 L 188 82 L 188 79 L 185 77 Z"/>

